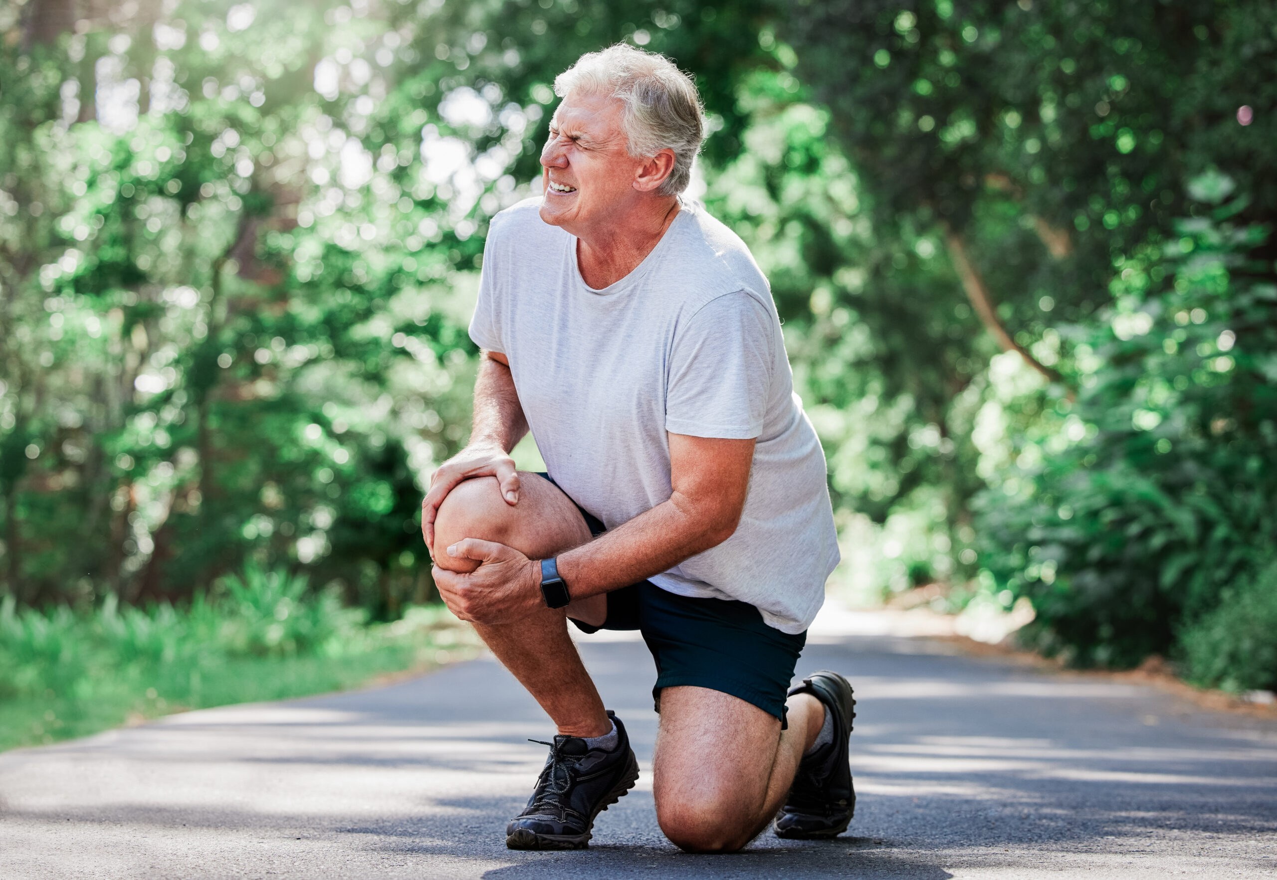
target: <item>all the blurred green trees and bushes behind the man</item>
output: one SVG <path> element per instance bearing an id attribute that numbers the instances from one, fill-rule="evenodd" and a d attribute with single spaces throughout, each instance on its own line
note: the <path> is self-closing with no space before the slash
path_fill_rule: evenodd
<path id="1" fill-rule="evenodd" d="M 9 0 L 0 32 L 24 605 L 244 559 L 381 619 L 430 598 L 487 221 L 539 192 L 554 75 L 619 40 L 697 79 L 691 194 L 773 282 L 876 585 L 1029 595 L 1042 646 L 1133 663 L 1271 534 L 1271 4 Z"/>

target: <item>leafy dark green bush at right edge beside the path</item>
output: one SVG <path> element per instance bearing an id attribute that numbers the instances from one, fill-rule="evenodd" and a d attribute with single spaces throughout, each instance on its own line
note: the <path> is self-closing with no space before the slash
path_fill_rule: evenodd
<path id="1" fill-rule="evenodd" d="M 1277 534 L 1277 286 L 1231 189 L 1195 180 L 1177 238 L 1115 257 L 1112 307 L 1074 331 L 1077 402 L 1047 402 L 981 499 L 983 565 L 1037 611 L 1024 637 L 1080 665 L 1176 653 Z"/>

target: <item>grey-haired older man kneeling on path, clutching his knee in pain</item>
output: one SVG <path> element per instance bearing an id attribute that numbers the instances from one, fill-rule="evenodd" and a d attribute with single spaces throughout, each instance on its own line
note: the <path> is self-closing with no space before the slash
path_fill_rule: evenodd
<path id="1" fill-rule="evenodd" d="M 854 810 L 852 688 L 790 688 L 838 563 L 825 460 L 748 249 L 679 198 L 691 79 L 626 46 L 554 83 L 544 195 L 498 215 L 470 336 L 470 444 L 423 531 L 448 607 L 558 733 L 516 849 L 581 848 L 638 778 L 567 632 L 638 628 L 656 662 L 654 792 L 688 851 L 834 837 Z M 515 470 L 531 429 L 549 474 Z M 788 701 L 787 701 L 788 696 Z"/>

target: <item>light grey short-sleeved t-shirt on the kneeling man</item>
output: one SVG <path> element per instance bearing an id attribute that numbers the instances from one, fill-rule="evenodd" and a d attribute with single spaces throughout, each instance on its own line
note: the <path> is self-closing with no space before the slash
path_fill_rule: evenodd
<path id="1" fill-rule="evenodd" d="M 554 482 L 614 529 L 669 498 L 665 432 L 757 438 L 736 533 L 651 581 L 747 602 L 776 630 L 802 632 L 838 565 L 838 535 L 825 456 L 748 248 L 684 203 L 633 272 L 595 290 L 576 238 L 539 208 L 529 199 L 493 218 L 470 337 L 510 359 Z"/>

